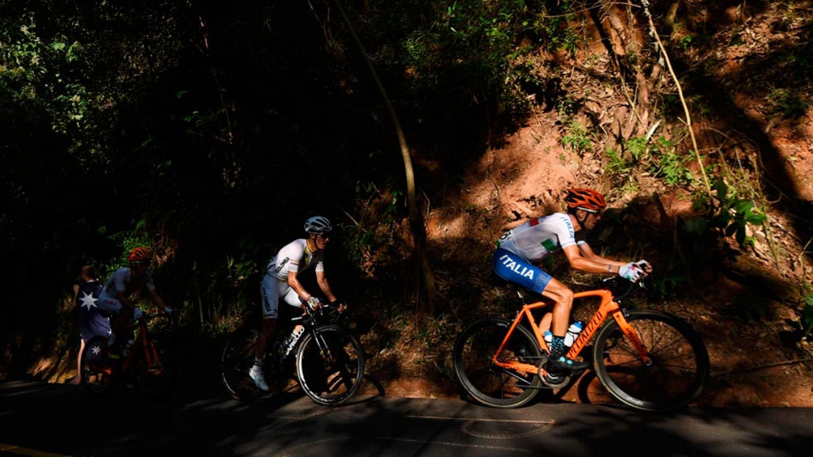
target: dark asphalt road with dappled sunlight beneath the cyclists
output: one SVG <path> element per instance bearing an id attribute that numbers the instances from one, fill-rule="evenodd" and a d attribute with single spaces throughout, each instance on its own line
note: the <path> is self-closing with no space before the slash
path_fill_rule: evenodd
<path id="1" fill-rule="evenodd" d="M 210 395 L 211 396 L 211 395 Z M 658 415 L 533 403 L 360 397 L 320 407 L 298 394 L 240 403 L 180 391 L 91 398 L 78 386 L 0 383 L 0 455 L 811 455 L 813 409 Z"/>

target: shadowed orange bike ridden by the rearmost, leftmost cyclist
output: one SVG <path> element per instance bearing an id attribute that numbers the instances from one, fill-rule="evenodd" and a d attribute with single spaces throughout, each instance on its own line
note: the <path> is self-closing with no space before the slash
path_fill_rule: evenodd
<path id="1" fill-rule="evenodd" d="M 144 314 L 122 331 L 133 329 L 133 345 L 127 355 L 111 357 L 107 347 L 109 336 L 95 336 L 85 344 L 80 360 L 80 384 L 90 394 L 104 396 L 115 384 L 137 385 L 150 398 L 166 398 L 175 387 L 177 369 L 175 357 L 167 346 L 160 344 L 150 333 L 147 323 L 156 317 Z M 121 382 L 119 382 L 121 381 Z"/>

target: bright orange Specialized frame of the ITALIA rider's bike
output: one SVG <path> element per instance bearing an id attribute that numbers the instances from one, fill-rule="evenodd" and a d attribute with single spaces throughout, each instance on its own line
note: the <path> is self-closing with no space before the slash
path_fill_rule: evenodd
<path id="1" fill-rule="evenodd" d="M 589 323 L 585 327 L 584 330 L 581 331 L 579 337 L 576 338 L 576 341 L 573 342 L 573 345 L 570 347 L 570 350 L 567 351 L 568 358 L 575 358 L 581 350 L 587 345 L 587 342 L 590 338 L 593 337 L 593 334 L 601 327 L 604 320 L 606 320 L 607 316 L 612 316 L 615 319 L 615 322 L 619 325 L 621 331 L 624 335 L 629 339 L 629 342 L 635 347 L 637 350 L 638 355 L 641 356 L 641 359 L 644 363 L 649 364 L 650 359 L 648 357 L 648 351 L 646 350 L 646 346 L 644 346 L 643 342 L 641 342 L 641 338 L 638 337 L 637 332 L 633 329 L 633 326 L 630 325 L 627 320 L 624 318 L 624 310 L 621 308 L 619 302 L 615 302 L 613 294 L 611 291 L 606 289 L 598 289 L 598 290 L 587 290 L 585 292 L 578 292 L 573 294 L 573 298 L 588 298 L 588 297 L 598 297 L 601 298 L 602 303 L 598 307 L 598 311 L 593 315 L 593 318 L 590 319 Z M 508 329 L 508 333 L 506 333 L 505 338 L 502 339 L 502 343 L 500 344 L 497 353 L 493 355 L 492 361 L 495 365 L 501 368 L 506 368 L 510 370 L 518 370 L 521 372 L 531 372 L 537 375 L 541 374 L 539 367 L 536 365 L 531 365 L 529 363 L 519 363 L 519 362 L 502 362 L 498 359 L 498 355 L 502 354 L 502 350 L 505 348 L 508 341 L 511 339 L 511 335 L 514 333 L 514 329 L 520 322 L 524 319 L 528 319 L 528 323 L 531 324 L 531 329 L 533 329 L 534 336 L 537 337 L 537 344 L 543 350 L 547 350 L 548 354 L 550 354 L 550 347 L 548 347 L 545 338 L 542 337 L 542 333 L 537 325 L 537 321 L 534 320 L 533 314 L 531 311 L 541 308 L 547 307 L 548 304 L 545 302 L 534 302 L 527 305 L 524 305 L 517 316 L 514 319 L 514 322 L 511 324 L 511 327 Z"/>

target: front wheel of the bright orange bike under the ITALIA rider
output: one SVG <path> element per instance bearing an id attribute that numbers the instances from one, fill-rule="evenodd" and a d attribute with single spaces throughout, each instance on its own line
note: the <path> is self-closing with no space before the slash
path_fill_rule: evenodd
<path id="1" fill-rule="evenodd" d="M 709 376 L 706 345 L 684 320 L 662 311 L 628 311 L 626 320 L 649 351 L 643 363 L 615 320 L 598 330 L 593 365 L 604 388 L 621 403 L 642 411 L 685 407 Z"/>

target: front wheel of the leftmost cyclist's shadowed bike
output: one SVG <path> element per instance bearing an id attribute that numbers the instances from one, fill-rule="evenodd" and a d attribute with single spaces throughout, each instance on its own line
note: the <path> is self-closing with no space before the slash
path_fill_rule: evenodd
<path id="1" fill-rule="evenodd" d="M 167 398 L 175 389 L 178 376 L 175 354 L 157 340 L 150 338 L 145 344 L 146 347 L 136 349 L 141 354 L 136 354 L 133 364 L 137 385 L 149 398 Z M 149 363 L 145 351 L 149 351 Z"/>

